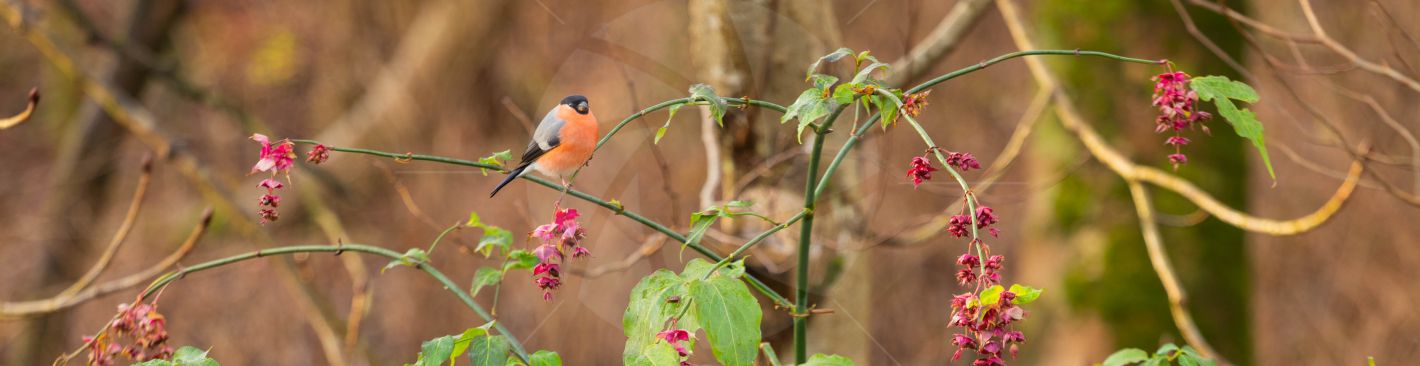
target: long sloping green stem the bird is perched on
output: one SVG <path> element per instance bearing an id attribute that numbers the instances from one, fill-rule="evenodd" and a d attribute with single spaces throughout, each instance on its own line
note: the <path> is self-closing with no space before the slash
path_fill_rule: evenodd
<path id="1" fill-rule="evenodd" d="M 305 143 L 305 145 L 315 145 L 315 143 L 318 143 L 315 140 L 308 140 L 308 139 L 291 139 L 291 140 L 295 142 L 295 143 Z M 419 153 L 392 153 L 392 152 L 381 152 L 381 150 L 371 150 L 371 149 L 355 149 L 355 148 L 331 148 L 331 146 L 327 146 L 327 148 L 331 149 L 332 152 L 362 153 L 362 155 L 392 157 L 392 159 L 399 159 L 399 160 L 435 162 L 435 163 L 446 163 L 446 165 L 457 165 L 457 166 L 471 166 L 471 167 L 481 167 L 481 169 L 497 170 L 497 172 L 507 172 L 507 169 L 504 169 L 503 166 L 486 165 L 486 163 L 479 163 L 479 162 L 471 162 L 471 160 L 464 160 L 464 159 L 454 159 L 454 157 L 444 157 L 444 156 L 419 155 Z M 548 187 L 548 189 L 552 189 L 552 190 L 558 190 L 558 192 L 561 192 L 564 189 L 561 184 L 552 183 L 552 182 L 547 180 L 547 179 L 542 179 L 542 177 L 538 177 L 538 176 L 534 176 L 534 174 L 525 174 L 525 176 L 521 176 L 521 179 L 530 180 L 532 183 L 537 183 L 538 186 L 544 186 L 544 187 Z M 666 234 L 672 240 L 676 240 L 676 241 L 679 241 L 682 244 L 687 243 L 686 235 L 683 235 L 680 233 L 676 233 L 674 230 L 670 230 L 669 227 L 666 227 L 666 226 L 663 226 L 660 223 L 656 223 L 656 221 L 653 221 L 650 218 L 646 218 L 645 216 L 636 214 L 633 211 L 628 211 L 626 207 L 622 207 L 621 204 L 612 204 L 612 203 L 609 203 L 606 200 L 598 199 L 596 196 L 586 194 L 586 193 L 579 192 L 579 190 L 568 190 L 567 194 L 569 194 L 572 197 L 577 197 L 577 199 L 581 199 L 584 201 L 601 206 L 604 209 L 608 209 L 612 213 L 625 216 L 626 218 L 630 218 L 632 221 L 640 223 L 640 224 L 643 224 L 643 226 L 646 226 L 646 227 L 649 227 L 652 230 L 656 230 L 656 231 L 659 231 L 662 234 Z M 719 254 L 716 254 L 710 248 L 706 248 L 704 245 L 690 244 L 690 248 L 696 250 L 697 253 L 700 253 L 701 255 L 704 255 L 706 258 L 710 258 L 713 261 L 724 260 L 723 257 L 720 257 Z M 770 301 L 774 301 L 775 305 L 784 306 L 784 308 L 794 306 L 794 302 L 791 302 L 784 295 L 780 295 L 778 292 L 775 292 L 772 288 L 770 288 L 768 285 L 765 285 L 758 278 L 747 274 L 747 275 L 744 275 L 744 281 L 748 282 L 750 287 L 753 287 L 755 291 L 760 291 L 760 294 L 764 294 L 764 296 L 768 296 Z"/>

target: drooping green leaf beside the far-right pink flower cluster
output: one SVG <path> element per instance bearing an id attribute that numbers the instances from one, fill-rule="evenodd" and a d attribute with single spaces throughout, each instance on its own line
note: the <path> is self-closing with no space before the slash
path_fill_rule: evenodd
<path id="1" fill-rule="evenodd" d="M 1227 77 L 1197 77 L 1189 81 L 1189 87 L 1198 94 L 1198 99 L 1213 101 L 1213 105 L 1218 108 L 1218 115 L 1223 115 L 1233 125 L 1233 131 L 1252 142 L 1258 155 L 1262 156 L 1267 174 L 1277 180 L 1272 160 L 1267 156 L 1267 142 L 1262 139 L 1262 122 L 1257 121 L 1252 111 L 1238 109 L 1237 105 L 1233 105 L 1233 99 L 1255 104 L 1260 99 L 1257 91 L 1245 82 L 1231 81 Z"/>

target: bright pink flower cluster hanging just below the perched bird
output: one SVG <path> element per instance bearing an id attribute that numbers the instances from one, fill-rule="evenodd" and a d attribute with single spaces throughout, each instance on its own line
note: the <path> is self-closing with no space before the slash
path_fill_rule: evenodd
<path id="1" fill-rule="evenodd" d="M 572 258 L 591 255 L 591 251 L 582 245 L 586 230 L 577 223 L 578 216 L 577 209 L 561 209 L 552 216 L 551 224 L 542 224 L 532 230 L 531 237 L 542 241 L 532 250 L 538 258 L 537 267 L 532 267 L 532 275 L 537 277 L 534 284 L 542 289 L 544 301 L 551 301 L 552 289 L 562 285 L 559 262 L 567 261 L 567 253 L 571 253 Z"/>

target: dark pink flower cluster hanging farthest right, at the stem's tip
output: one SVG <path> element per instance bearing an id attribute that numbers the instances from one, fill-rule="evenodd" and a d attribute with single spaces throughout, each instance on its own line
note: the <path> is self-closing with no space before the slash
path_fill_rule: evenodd
<path id="1" fill-rule="evenodd" d="M 1191 140 L 1183 136 L 1183 131 L 1198 125 L 1203 128 L 1203 133 L 1208 133 L 1208 126 L 1203 122 L 1211 119 L 1213 115 L 1198 111 L 1197 104 L 1198 94 L 1189 88 L 1189 74 L 1170 71 L 1154 77 L 1153 106 L 1159 108 L 1159 116 L 1154 118 L 1154 132 L 1173 131 L 1173 136 L 1164 139 L 1164 145 L 1173 146 L 1169 163 L 1176 170 L 1180 165 L 1189 163 L 1189 156 L 1183 155 L 1183 146 Z"/>

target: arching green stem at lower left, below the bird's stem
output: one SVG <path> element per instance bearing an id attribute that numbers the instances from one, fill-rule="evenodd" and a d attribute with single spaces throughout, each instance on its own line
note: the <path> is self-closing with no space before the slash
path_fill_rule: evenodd
<path id="1" fill-rule="evenodd" d="M 248 253 L 244 253 L 244 254 L 237 254 L 237 255 L 231 255 L 231 257 L 226 257 L 226 258 L 212 260 L 212 261 L 200 262 L 200 264 L 196 264 L 196 265 L 192 265 L 192 267 L 186 267 L 186 268 L 173 271 L 173 272 L 168 272 L 168 274 L 159 277 L 158 279 L 155 279 L 153 284 L 148 285 L 148 289 L 143 289 L 143 294 L 139 296 L 139 299 L 148 299 L 148 298 L 151 298 L 153 294 L 156 294 L 159 289 L 162 289 L 168 284 L 172 284 L 173 281 L 178 281 L 178 279 L 186 277 L 187 274 L 200 272 L 200 271 L 206 271 L 206 270 L 212 270 L 212 268 L 217 268 L 217 267 L 223 267 L 223 265 L 229 265 L 229 264 L 236 264 L 236 262 L 256 260 L 256 258 L 268 257 L 268 255 L 297 254 L 297 253 L 337 253 L 337 255 L 338 255 L 339 253 L 344 253 L 344 251 L 373 254 L 373 255 L 381 255 L 381 257 L 390 258 L 390 260 L 402 260 L 402 258 L 405 258 L 402 254 L 399 254 L 396 251 L 392 251 L 392 250 L 388 250 L 388 248 L 382 248 L 382 247 L 362 245 L 362 244 L 290 245 L 290 247 L 266 248 L 266 250 L 248 251 Z M 443 287 L 446 289 L 449 289 L 449 292 L 453 292 L 456 296 L 459 296 L 459 299 L 463 301 L 463 304 L 467 305 L 469 309 L 473 309 L 473 312 L 479 314 L 479 316 L 481 316 L 484 321 L 493 322 L 493 326 L 496 329 L 498 329 L 498 333 L 501 333 L 501 335 L 511 335 L 508 332 L 508 329 L 503 326 L 503 323 L 496 322 L 494 318 L 491 315 L 488 315 L 487 311 L 483 309 L 483 306 L 479 306 L 479 304 L 473 301 L 473 296 L 469 296 L 467 292 L 463 292 L 463 289 L 460 289 L 457 284 L 454 284 L 453 281 L 450 281 L 449 277 L 446 277 L 437 268 L 435 268 L 429 262 L 416 262 L 415 268 L 419 268 L 420 271 L 425 271 L 426 274 L 429 274 L 429 277 L 433 277 L 435 279 L 437 279 L 439 284 L 443 284 Z M 518 339 L 514 338 L 514 336 L 507 336 L 507 339 L 508 339 L 508 343 L 513 345 L 513 353 L 518 359 L 521 359 L 524 363 L 528 363 L 528 353 L 527 353 L 527 349 L 523 348 L 523 343 L 518 342 Z"/>

